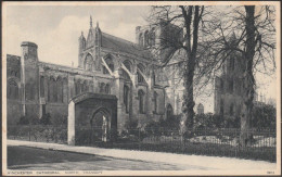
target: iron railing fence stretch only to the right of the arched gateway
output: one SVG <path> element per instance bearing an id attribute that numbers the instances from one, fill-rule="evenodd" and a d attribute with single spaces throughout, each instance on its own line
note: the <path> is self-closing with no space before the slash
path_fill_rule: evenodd
<path id="1" fill-rule="evenodd" d="M 90 131 L 95 131 L 92 129 Z M 98 129 L 101 130 L 101 129 Z M 115 142 L 91 141 L 85 146 L 144 150 L 184 154 L 232 156 L 275 162 L 277 137 L 273 129 L 252 129 L 246 134 L 251 140 L 240 143 L 240 129 L 189 129 L 184 136 L 169 129 L 128 129 Z"/>

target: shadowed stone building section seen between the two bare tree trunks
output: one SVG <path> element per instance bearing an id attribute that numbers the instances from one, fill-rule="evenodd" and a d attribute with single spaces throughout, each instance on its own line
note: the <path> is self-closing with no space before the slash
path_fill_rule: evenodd
<path id="1" fill-rule="evenodd" d="M 235 43 L 235 34 L 229 39 Z M 225 118 L 235 119 L 243 105 L 243 68 L 245 61 L 239 52 L 233 51 L 222 63 L 220 76 L 215 78 L 214 113 Z"/>

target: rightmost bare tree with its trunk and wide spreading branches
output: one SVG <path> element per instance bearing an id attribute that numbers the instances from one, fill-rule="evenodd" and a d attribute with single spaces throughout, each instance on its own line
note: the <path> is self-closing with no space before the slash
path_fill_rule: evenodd
<path id="1" fill-rule="evenodd" d="M 243 72 L 243 108 L 241 110 L 241 144 L 246 146 L 252 127 L 252 110 L 256 81 L 254 74 L 271 74 L 275 71 L 275 27 L 273 7 L 230 7 L 230 11 L 219 12 L 203 23 L 208 41 L 203 42 L 208 52 L 203 67 L 205 75 L 215 74 L 222 63 L 240 55 Z M 236 36 L 232 38 L 230 36 Z"/>

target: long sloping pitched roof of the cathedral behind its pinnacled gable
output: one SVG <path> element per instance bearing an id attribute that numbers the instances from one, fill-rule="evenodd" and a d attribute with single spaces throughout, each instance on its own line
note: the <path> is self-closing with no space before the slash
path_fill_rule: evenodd
<path id="1" fill-rule="evenodd" d="M 143 49 L 139 45 L 130 42 L 130 41 L 121 39 L 121 38 L 118 38 L 118 37 L 115 37 L 115 36 L 112 36 L 112 35 L 108 35 L 108 34 L 105 34 L 105 33 L 102 33 L 101 46 L 103 48 L 112 49 L 117 52 L 134 54 L 140 58 L 148 59 L 148 60 L 153 59 L 152 53 L 149 50 Z"/>

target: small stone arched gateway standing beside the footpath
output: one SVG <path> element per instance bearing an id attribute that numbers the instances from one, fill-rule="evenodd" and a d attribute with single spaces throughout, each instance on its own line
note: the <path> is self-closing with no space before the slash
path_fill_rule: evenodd
<path id="1" fill-rule="evenodd" d="M 87 131 L 91 130 L 88 135 Z M 89 137 L 93 140 L 114 141 L 117 134 L 117 98 L 86 92 L 68 103 L 67 143 L 77 144 Z"/>

